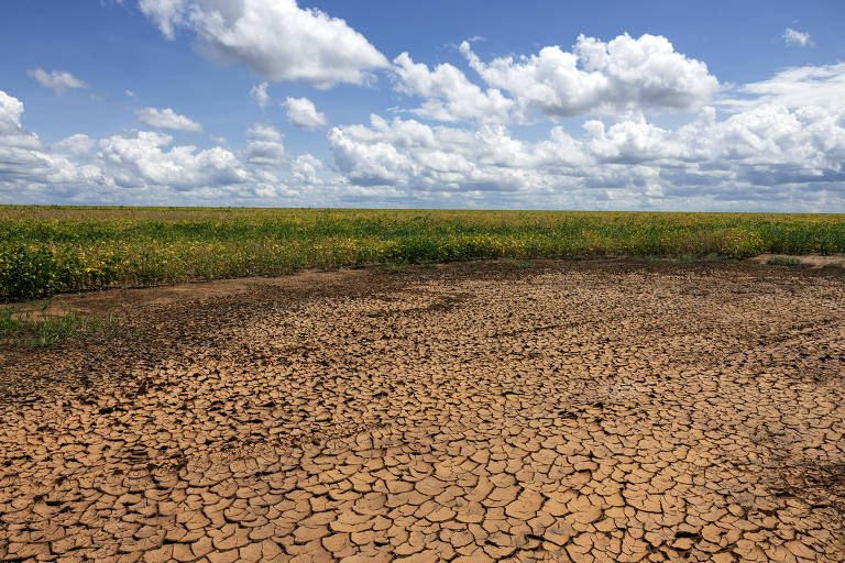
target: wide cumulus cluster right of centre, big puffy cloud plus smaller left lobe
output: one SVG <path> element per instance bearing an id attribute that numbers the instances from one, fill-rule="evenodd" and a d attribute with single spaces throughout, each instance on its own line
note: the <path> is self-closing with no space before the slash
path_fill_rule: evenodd
<path id="1" fill-rule="evenodd" d="M 461 53 L 487 88 L 450 64 L 434 69 L 407 53 L 396 57 L 397 90 L 424 98 L 413 113 L 438 121 L 527 122 L 533 115 L 623 115 L 694 111 L 710 102 L 718 80 L 704 63 L 674 51 L 666 37 L 581 35 L 572 52 L 547 46 L 537 55 L 482 62 L 469 41 Z"/>

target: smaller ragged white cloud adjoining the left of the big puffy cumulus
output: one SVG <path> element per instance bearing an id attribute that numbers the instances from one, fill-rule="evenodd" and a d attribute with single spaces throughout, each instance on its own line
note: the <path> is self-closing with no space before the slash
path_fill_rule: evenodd
<path id="1" fill-rule="evenodd" d="M 396 88 L 425 98 L 422 106 L 411 110 L 419 117 L 438 121 L 506 122 L 514 101 L 492 88 L 483 91 L 458 68 L 442 64 L 429 70 L 414 63 L 407 53 L 393 59 Z"/>

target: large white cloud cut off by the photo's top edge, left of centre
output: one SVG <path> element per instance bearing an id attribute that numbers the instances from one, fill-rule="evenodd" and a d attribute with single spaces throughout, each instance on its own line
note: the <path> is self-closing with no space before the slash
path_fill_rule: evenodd
<path id="1" fill-rule="evenodd" d="M 221 60 L 238 60 L 267 80 L 303 80 L 318 88 L 362 84 L 387 59 L 345 21 L 296 0 L 140 0 L 162 33 L 194 31 Z"/>

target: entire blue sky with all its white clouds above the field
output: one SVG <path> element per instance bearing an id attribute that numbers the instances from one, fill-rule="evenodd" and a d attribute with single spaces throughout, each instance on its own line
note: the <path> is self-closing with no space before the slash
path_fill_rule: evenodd
<path id="1" fill-rule="evenodd" d="M 2 10 L 0 202 L 845 212 L 839 1 Z"/>

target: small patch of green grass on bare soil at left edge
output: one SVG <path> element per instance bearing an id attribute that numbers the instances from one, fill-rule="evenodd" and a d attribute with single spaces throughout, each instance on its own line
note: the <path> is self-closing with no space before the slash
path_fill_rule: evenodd
<path id="1" fill-rule="evenodd" d="M 123 327 L 114 314 L 105 317 L 79 314 L 74 311 L 48 312 L 50 300 L 31 307 L 0 307 L 0 338 L 30 347 L 52 346 L 68 338 L 132 340 L 139 331 Z"/>

